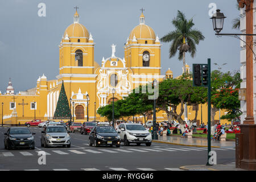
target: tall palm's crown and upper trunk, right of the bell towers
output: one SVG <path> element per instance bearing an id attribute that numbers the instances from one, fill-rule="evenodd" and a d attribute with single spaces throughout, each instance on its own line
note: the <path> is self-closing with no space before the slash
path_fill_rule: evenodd
<path id="1" fill-rule="evenodd" d="M 170 46 L 170 58 L 176 55 L 179 50 L 179 60 L 183 59 L 183 73 L 185 72 L 185 52 L 189 52 L 191 57 L 195 57 L 196 44 L 198 45 L 200 40 L 204 40 L 204 36 L 201 31 L 193 28 L 193 18 L 187 20 L 185 15 L 178 10 L 176 18 L 172 20 L 172 24 L 176 30 L 169 32 L 163 36 L 160 40 L 162 42 L 172 42 Z M 187 42 L 187 43 L 186 43 Z"/>

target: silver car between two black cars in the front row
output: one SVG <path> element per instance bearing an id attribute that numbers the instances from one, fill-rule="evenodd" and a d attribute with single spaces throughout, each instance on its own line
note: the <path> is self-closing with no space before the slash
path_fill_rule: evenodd
<path id="1" fill-rule="evenodd" d="M 71 147 L 69 131 L 64 126 L 47 126 L 46 131 L 42 131 L 41 146 L 67 146 Z"/>

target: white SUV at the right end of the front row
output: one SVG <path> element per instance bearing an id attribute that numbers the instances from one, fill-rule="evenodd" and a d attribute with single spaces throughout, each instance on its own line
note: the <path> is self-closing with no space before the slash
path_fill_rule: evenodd
<path id="1" fill-rule="evenodd" d="M 151 146 L 152 136 L 141 124 L 121 123 L 118 126 L 117 133 L 125 146 L 129 146 L 130 143 L 137 143 L 138 146 L 141 143 L 146 143 L 146 146 Z"/>

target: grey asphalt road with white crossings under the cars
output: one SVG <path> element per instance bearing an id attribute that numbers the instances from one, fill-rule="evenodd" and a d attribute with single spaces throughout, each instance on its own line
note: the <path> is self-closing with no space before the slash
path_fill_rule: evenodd
<path id="1" fill-rule="evenodd" d="M 35 150 L 5 150 L 3 144 L 7 127 L 0 128 L 0 170 L 85 170 L 85 171 L 177 171 L 180 166 L 205 164 L 207 148 L 152 143 L 137 146 L 90 147 L 88 135 L 71 133 L 71 148 L 40 145 L 42 129 L 30 127 L 36 133 Z M 234 165 L 234 148 L 213 148 L 217 164 Z M 39 151 L 46 152 L 46 165 L 39 165 Z"/>

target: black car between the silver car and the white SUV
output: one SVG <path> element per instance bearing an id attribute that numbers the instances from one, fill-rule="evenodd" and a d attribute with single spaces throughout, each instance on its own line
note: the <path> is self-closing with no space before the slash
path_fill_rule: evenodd
<path id="1" fill-rule="evenodd" d="M 120 147 L 120 137 L 112 126 L 95 126 L 89 135 L 89 146 L 105 145 Z"/>

